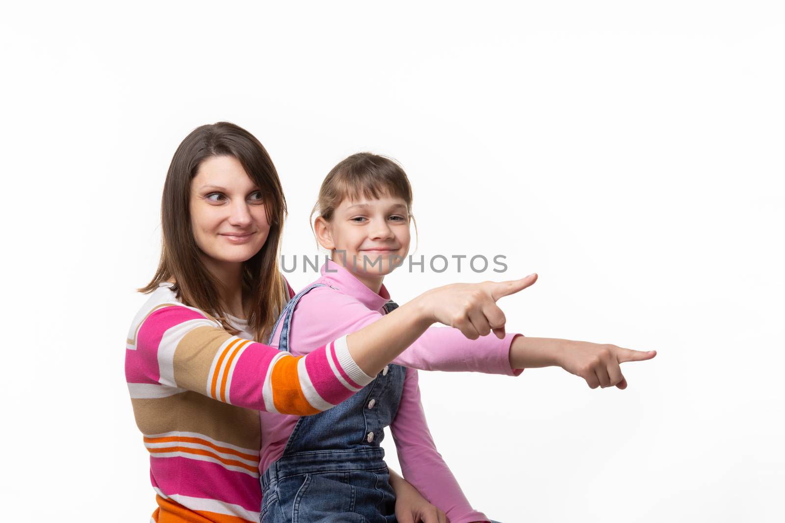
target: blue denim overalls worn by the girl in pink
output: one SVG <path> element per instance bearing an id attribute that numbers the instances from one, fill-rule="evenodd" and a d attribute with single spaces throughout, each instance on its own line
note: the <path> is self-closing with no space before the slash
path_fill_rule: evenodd
<path id="1" fill-rule="evenodd" d="M 300 298 L 323 286 L 306 287 L 284 307 L 279 350 L 289 350 Z M 385 311 L 396 307 L 388 302 Z M 398 412 L 405 376 L 400 365 L 388 365 L 340 405 L 298 420 L 283 456 L 261 475 L 261 523 L 396 523 L 395 492 L 379 444 Z"/>

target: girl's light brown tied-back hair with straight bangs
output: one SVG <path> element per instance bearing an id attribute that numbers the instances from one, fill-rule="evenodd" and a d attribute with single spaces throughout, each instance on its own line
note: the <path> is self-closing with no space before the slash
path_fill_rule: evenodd
<path id="1" fill-rule="evenodd" d="M 344 158 L 330 169 L 330 173 L 327 173 L 322 187 L 319 188 L 319 198 L 311 210 L 311 230 L 313 230 L 314 214 L 318 213 L 318 216 L 329 222 L 333 219 L 335 209 L 345 199 L 370 200 L 382 196 L 401 198 L 406 202 L 407 218 L 414 223 L 416 237 L 417 222 L 411 212 L 412 195 L 409 177 L 392 158 L 368 152 L 356 153 Z M 414 249 L 417 249 L 416 244 Z"/>

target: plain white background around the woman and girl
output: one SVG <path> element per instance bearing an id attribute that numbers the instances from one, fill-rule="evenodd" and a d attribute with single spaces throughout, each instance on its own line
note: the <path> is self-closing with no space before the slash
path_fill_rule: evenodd
<path id="1" fill-rule="evenodd" d="M 148 521 L 123 340 L 173 151 L 228 120 L 276 162 L 283 252 L 317 252 L 308 215 L 334 163 L 389 154 L 414 187 L 417 255 L 539 273 L 500 302 L 509 329 L 659 351 L 623 365 L 627 390 L 553 368 L 422 372 L 475 507 L 506 523 L 782 521 L 781 2 L 2 11 L 6 520 Z M 403 303 L 495 277 L 387 284 Z"/>

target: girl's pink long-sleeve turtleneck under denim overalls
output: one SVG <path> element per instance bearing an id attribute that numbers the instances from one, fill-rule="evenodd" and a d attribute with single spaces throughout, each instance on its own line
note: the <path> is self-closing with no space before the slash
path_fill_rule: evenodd
<path id="1" fill-rule="evenodd" d="M 370 325 L 382 317 L 382 307 L 390 300 L 384 285 L 377 294 L 331 260 L 323 265 L 321 273 L 315 283 L 326 286 L 312 289 L 295 308 L 290 331 L 293 354 L 305 354 L 309 347 L 320 347 L 338 336 Z M 282 326 L 274 332 L 272 347 L 278 346 Z M 521 369 L 509 367 L 509 347 L 515 336 L 510 333 L 499 340 L 491 334 L 468 340 L 458 329 L 431 327 L 393 360 L 393 363 L 407 367 L 400 407 L 390 426 L 401 472 L 422 496 L 444 510 L 452 523 L 487 521 L 487 517 L 471 507 L 458 481 L 436 451 L 422 410 L 415 369 L 517 376 Z M 299 418 L 261 412 L 259 468 L 262 472 L 283 456 Z"/>

